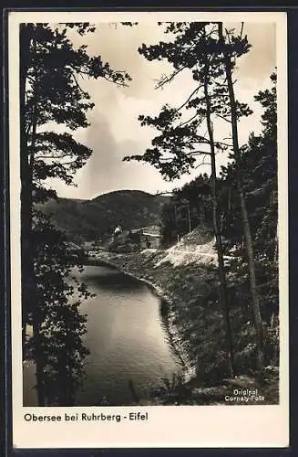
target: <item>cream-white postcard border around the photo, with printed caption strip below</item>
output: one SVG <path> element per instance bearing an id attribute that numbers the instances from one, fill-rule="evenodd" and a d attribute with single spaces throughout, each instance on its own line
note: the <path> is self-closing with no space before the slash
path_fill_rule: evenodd
<path id="1" fill-rule="evenodd" d="M 25 408 L 22 388 L 20 166 L 18 101 L 18 25 L 21 22 L 215 21 L 276 22 L 278 97 L 278 179 L 280 248 L 280 404 L 276 406 L 179 406 Z M 286 14 L 275 12 L 11 12 L 8 18 L 9 149 L 11 218 L 13 443 L 17 448 L 134 447 L 286 447 L 289 443 L 288 344 L 288 170 L 287 170 L 287 27 Z M 128 416 L 149 413 L 149 420 L 117 422 L 33 422 L 37 416 L 106 411 Z"/>

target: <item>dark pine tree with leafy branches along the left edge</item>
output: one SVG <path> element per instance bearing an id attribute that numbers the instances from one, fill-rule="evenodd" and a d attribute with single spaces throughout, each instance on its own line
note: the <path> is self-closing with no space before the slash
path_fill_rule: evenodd
<path id="1" fill-rule="evenodd" d="M 85 350 L 79 340 L 84 319 L 78 314 L 78 305 L 67 308 L 67 297 L 74 291 L 66 282 L 71 265 L 66 259 L 65 245 L 57 230 L 35 211 L 35 203 L 56 197 L 53 190 L 46 188 L 47 178 L 58 178 L 71 185 L 75 173 L 92 153 L 72 135 L 79 128 L 87 128 L 87 112 L 94 106 L 80 80 L 86 76 L 102 78 L 119 86 L 129 80 L 127 73 L 110 69 L 100 57 L 89 57 L 85 45 L 74 48 L 67 37 L 69 29 L 76 29 L 81 36 L 95 31 L 87 23 L 20 26 L 23 341 L 26 325 L 31 324 L 31 353 L 36 362 L 40 406 L 51 397 L 48 387 L 54 365 L 59 367 L 57 382 L 70 377 L 74 380 L 73 371 L 79 371 L 79 358 Z M 63 125 L 64 133 L 57 133 L 56 128 L 49 130 L 49 122 Z M 82 284 L 78 284 L 77 292 L 83 298 L 87 296 Z M 49 361 L 52 374 L 51 369 L 46 371 Z M 67 381 L 66 386 L 72 389 Z M 69 403 L 69 396 L 67 399 L 67 393 L 64 394 L 63 401 Z"/>

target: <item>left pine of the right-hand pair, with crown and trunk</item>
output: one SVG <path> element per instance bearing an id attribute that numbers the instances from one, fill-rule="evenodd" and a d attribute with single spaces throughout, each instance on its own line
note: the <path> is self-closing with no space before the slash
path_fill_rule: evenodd
<path id="1" fill-rule="evenodd" d="M 226 348 L 229 373 L 235 372 L 233 348 L 231 341 L 231 323 L 227 285 L 224 271 L 223 249 L 221 242 L 221 224 L 218 207 L 218 180 L 216 176 L 216 154 L 227 149 L 225 143 L 214 139 L 212 116 L 225 118 L 228 114 L 229 91 L 221 84 L 224 74 L 221 48 L 219 47 L 217 26 L 208 23 L 171 23 L 166 33 L 172 33 L 174 40 L 160 42 L 159 45 L 146 47 L 142 45 L 139 52 L 149 60 L 166 58 L 174 67 L 170 76 L 164 76 L 159 86 L 174 80 L 181 71 L 190 70 L 196 87 L 189 97 L 178 108 L 165 105 L 155 118 L 139 116 L 142 125 L 151 125 L 160 132 L 152 140 L 151 149 L 143 155 L 127 157 L 149 162 L 159 169 L 166 179 L 174 179 L 189 173 L 198 166 L 197 158 L 203 155 L 200 165 L 204 165 L 205 157 L 211 160 L 211 195 L 212 224 L 218 253 L 221 309 L 226 324 Z M 247 52 L 248 48 L 243 48 Z M 241 54 L 240 54 L 241 55 Z M 218 82 L 220 80 L 220 82 Z M 187 114 L 192 112 L 191 115 Z M 249 108 L 245 104 L 237 105 L 237 115 L 248 115 Z M 206 123 L 208 133 L 200 134 L 200 127 Z"/>

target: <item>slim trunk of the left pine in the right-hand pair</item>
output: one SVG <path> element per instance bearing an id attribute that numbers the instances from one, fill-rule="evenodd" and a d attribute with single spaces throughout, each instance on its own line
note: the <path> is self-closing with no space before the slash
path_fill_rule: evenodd
<path id="1" fill-rule="evenodd" d="M 206 69 L 208 71 L 208 69 Z M 228 301 L 227 293 L 227 282 L 224 271 L 224 260 L 223 250 L 221 242 L 221 229 L 219 223 L 219 211 L 218 211 L 218 189 L 217 189 L 217 177 L 216 177 L 216 159 L 215 159 L 215 145 L 213 137 L 213 128 L 211 124 L 211 101 L 208 92 L 208 79 L 205 77 L 204 80 L 204 97 L 206 102 L 206 121 L 208 134 L 211 146 L 211 183 L 212 183 L 212 221 L 213 230 L 216 240 L 216 250 L 218 257 L 218 271 L 220 278 L 220 302 L 221 310 L 224 314 L 225 321 L 225 345 L 227 352 L 228 370 L 231 377 L 235 376 L 235 363 L 234 363 L 234 352 L 231 336 L 231 320 L 230 320 L 230 306 Z"/>

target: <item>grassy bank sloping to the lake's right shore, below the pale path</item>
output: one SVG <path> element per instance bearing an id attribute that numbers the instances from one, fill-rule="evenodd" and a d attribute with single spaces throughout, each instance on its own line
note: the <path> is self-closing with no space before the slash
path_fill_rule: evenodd
<path id="1" fill-rule="evenodd" d="M 278 368 L 254 368 L 253 326 L 241 303 L 231 303 L 231 327 L 237 377 L 229 378 L 224 349 L 224 324 L 218 300 L 218 275 L 212 242 L 190 250 L 143 250 L 128 254 L 102 253 L 107 262 L 149 283 L 169 303 L 171 343 L 182 360 L 183 378 L 165 380 L 157 396 L 165 404 L 237 404 L 225 400 L 235 390 L 258 391 L 263 403 L 278 403 Z M 252 400 L 255 404 L 255 400 Z"/>

